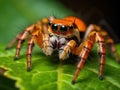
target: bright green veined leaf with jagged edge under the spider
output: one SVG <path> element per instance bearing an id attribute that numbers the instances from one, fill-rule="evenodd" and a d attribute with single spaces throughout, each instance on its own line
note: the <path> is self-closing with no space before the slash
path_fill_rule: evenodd
<path id="1" fill-rule="evenodd" d="M 0 67 L 6 69 L 5 76 L 16 80 L 20 90 L 119 90 L 120 65 L 114 58 L 107 56 L 104 80 L 98 79 L 98 58 L 88 60 L 80 72 L 76 84 L 71 80 L 76 65 L 59 62 L 56 54 L 46 57 L 38 47 L 35 47 L 32 57 L 32 70 L 26 71 L 25 48 L 22 49 L 19 60 L 14 61 L 15 49 L 5 51 L 0 46 Z M 120 45 L 117 46 L 120 48 Z M 120 53 L 120 52 L 119 52 Z M 95 59 L 95 60 L 93 60 Z"/>

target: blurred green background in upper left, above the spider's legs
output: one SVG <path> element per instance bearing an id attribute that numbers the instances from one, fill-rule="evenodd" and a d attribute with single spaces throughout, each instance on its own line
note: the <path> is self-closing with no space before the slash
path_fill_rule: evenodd
<path id="1" fill-rule="evenodd" d="M 0 0 L 0 43 L 8 43 L 28 25 L 51 15 L 74 13 L 58 0 Z"/>

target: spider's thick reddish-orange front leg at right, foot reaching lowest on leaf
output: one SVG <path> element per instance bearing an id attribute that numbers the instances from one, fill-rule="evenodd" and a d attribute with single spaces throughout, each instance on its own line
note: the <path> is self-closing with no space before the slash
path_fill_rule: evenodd
<path id="1" fill-rule="evenodd" d="M 73 79 L 72 79 L 72 84 L 75 83 L 75 80 L 76 80 L 79 72 L 83 68 L 83 65 L 84 65 L 84 63 L 85 63 L 85 61 L 86 61 L 86 59 L 88 57 L 88 54 L 89 54 L 91 48 L 93 47 L 94 41 L 95 41 L 95 34 L 93 34 L 93 35 L 91 34 L 76 49 L 76 55 L 79 56 L 80 62 L 77 65 L 77 69 L 76 69 L 75 74 L 74 74 Z"/>

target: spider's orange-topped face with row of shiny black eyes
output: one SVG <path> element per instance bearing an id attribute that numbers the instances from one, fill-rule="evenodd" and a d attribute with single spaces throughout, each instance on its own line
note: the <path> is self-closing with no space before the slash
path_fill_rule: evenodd
<path id="1" fill-rule="evenodd" d="M 52 19 L 48 24 L 49 32 L 57 35 L 70 36 L 74 29 L 72 22 L 63 19 Z"/>

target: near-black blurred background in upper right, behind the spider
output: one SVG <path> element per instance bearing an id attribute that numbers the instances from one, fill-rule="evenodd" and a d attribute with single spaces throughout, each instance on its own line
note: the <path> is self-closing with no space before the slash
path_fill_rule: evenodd
<path id="1" fill-rule="evenodd" d="M 60 0 L 87 24 L 105 28 L 116 43 L 120 42 L 119 3 L 114 0 Z"/>

